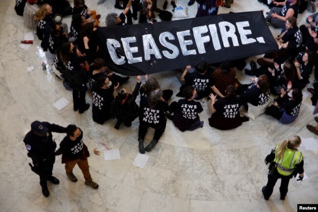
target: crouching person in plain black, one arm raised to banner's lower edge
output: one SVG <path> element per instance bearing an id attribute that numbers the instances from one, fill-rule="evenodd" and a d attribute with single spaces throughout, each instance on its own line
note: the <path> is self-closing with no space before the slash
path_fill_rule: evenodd
<path id="1" fill-rule="evenodd" d="M 141 76 L 137 76 L 137 83 L 132 94 L 126 89 L 120 89 L 112 102 L 111 114 L 114 114 L 117 120 L 114 128 L 119 130 L 120 124 L 123 122 L 126 127 L 132 125 L 132 121 L 139 116 L 139 107 L 136 104 L 136 98 L 139 94 L 141 85 Z"/>

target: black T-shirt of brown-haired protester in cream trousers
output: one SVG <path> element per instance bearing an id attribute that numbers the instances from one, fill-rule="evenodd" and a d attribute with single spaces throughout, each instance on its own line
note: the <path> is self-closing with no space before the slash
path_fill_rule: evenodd
<path id="1" fill-rule="evenodd" d="M 260 106 L 270 100 L 270 91 L 268 91 L 267 95 L 265 95 L 259 88 L 257 88 L 256 83 L 253 83 L 240 97 L 244 103 L 250 102 L 251 105 Z"/>

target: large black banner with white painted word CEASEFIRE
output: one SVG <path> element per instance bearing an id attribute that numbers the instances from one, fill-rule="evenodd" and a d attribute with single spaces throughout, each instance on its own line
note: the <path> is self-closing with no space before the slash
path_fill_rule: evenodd
<path id="1" fill-rule="evenodd" d="M 261 11 L 220 14 L 154 24 L 99 27 L 106 65 L 144 75 L 273 52 L 278 46 Z"/>

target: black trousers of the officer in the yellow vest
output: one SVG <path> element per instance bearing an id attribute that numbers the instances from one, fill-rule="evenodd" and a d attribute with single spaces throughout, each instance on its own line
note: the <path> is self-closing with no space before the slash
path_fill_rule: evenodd
<path id="1" fill-rule="evenodd" d="M 265 198 L 270 198 L 270 196 L 273 193 L 274 186 L 279 179 L 279 177 L 272 176 L 270 174 L 267 175 L 268 181 L 264 190 L 264 197 Z M 280 197 L 285 198 L 287 192 L 288 192 L 288 184 L 289 184 L 290 178 L 281 178 L 281 183 L 279 187 L 280 191 Z"/>

